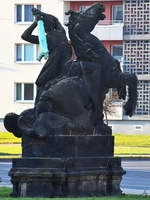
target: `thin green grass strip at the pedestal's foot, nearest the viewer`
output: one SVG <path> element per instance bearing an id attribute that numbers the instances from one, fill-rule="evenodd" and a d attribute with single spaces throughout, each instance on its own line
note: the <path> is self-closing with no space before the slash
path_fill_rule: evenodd
<path id="1" fill-rule="evenodd" d="M 50 198 L 9 198 L 11 188 L 0 187 L 0 199 L 5 200 L 50 200 Z M 52 200 L 150 200 L 150 196 L 122 195 L 120 197 L 84 197 L 84 198 L 51 198 Z"/>

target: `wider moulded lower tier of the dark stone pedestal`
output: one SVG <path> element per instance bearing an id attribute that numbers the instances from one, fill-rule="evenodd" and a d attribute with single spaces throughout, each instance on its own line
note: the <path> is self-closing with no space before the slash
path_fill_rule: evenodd
<path id="1" fill-rule="evenodd" d="M 125 172 L 120 158 L 13 159 L 9 172 L 15 197 L 120 195 Z"/>

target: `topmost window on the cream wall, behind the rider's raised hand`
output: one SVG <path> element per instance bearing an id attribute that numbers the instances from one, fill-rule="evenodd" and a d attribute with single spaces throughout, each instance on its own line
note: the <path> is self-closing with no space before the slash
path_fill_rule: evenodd
<path id="1" fill-rule="evenodd" d="M 33 15 L 32 15 L 32 8 L 37 8 L 41 10 L 41 5 L 16 5 L 16 22 L 32 22 Z"/>

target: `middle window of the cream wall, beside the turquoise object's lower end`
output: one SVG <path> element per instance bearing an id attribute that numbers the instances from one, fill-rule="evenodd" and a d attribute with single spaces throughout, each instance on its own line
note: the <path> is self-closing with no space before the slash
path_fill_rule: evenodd
<path id="1" fill-rule="evenodd" d="M 36 62 L 38 47 L 34 44 L 16 44 L 16 62 Z"/>

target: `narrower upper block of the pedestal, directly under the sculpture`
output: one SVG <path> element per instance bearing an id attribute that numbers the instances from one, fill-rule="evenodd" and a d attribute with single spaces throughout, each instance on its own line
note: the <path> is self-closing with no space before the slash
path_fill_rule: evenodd
<path id="1" fill-rule="evenodd" d="M 48 136 L 46 139 L 22 138 L 22 157 L 96 157 L 113 156 L 113 136 Z"/>

